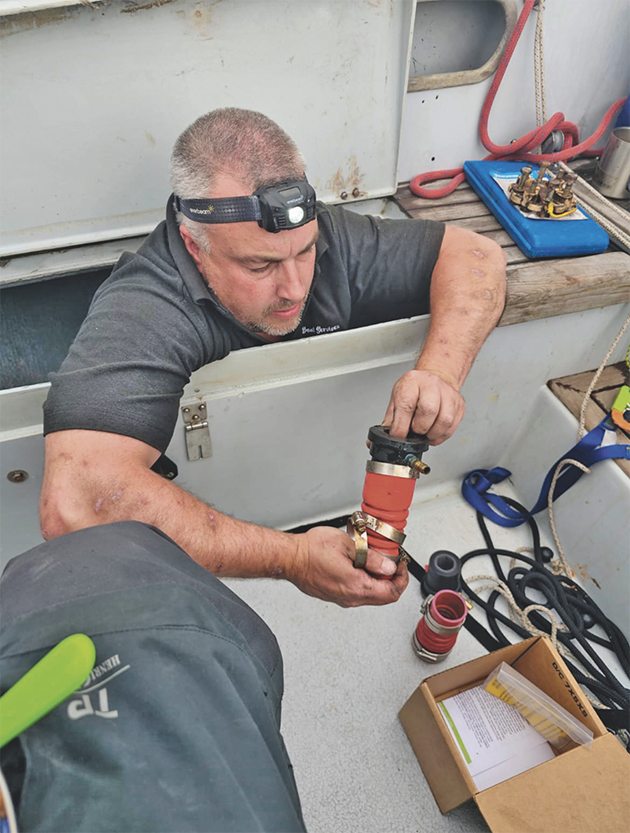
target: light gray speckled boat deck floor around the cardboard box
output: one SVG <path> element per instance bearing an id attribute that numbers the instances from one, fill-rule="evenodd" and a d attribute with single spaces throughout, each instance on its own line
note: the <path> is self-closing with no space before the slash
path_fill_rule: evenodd
<path id="1" fill-rule="evenodd" d="M 432 494 L 430 478 L 416 487 L 409 552 L 426 564 L 437 549 L 462 556 L 483 547 L 459 481 Z M 510 486 L 500 492 L 518 499 Z M 544 518 L 540 526 L 543 544 L 552 545 Z M 527 528 L 489 527 L 497 546 L 516 550 L 531 543 Z M 473 559 L 464 575 L 488 572 L 488 564 L 487 557 Z M 416 657 L 411 634 L 422 597 L 413 577 L 396 604 L 352 610 L 304 596 L 286 582 L 228 583 L 269 624 L 284 655 L 283 734 L 309 833 L 487 831 L 473 802 L 441 815 L 398 721 L 399 709 L 425 677 L 485 653 L 462 630 L 445 662 L 431 665 Z M 475 615 L 485 624 L 479 611 Z"/>

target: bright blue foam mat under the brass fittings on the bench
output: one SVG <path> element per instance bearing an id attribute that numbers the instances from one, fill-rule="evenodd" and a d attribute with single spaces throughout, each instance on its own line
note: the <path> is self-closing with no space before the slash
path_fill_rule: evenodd
<path id="1" fill-rule="evenodd" d="M 512 205 L 492 178 L 493 174 L 519 174 L 529 162 L 465 162 L 464 173 L 519 248 L 529 257 L 566 257 L 605 251 L 608 235 L 591 217 L 585 220 L 529 220 Z M 539 170 L 532 165 L 532 175 Z M 588 212 L 580 205 L 582 213 Z"/>

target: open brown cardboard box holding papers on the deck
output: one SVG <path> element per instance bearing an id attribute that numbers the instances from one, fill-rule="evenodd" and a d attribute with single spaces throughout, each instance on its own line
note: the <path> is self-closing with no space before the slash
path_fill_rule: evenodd
<path id="1" fill-rule="evenodd" d="M 490 789 L 478 791 L 437 707 L 482 683 L 507 662 L 593 732 L 593 746 L 573 746 Z M 630 755 L 597 717 L 560 654 L 533 637 L 426 679 L 400 710 L 440 810 L 471 798 L 495 833 L 618 833 L 630 825 Z"/>

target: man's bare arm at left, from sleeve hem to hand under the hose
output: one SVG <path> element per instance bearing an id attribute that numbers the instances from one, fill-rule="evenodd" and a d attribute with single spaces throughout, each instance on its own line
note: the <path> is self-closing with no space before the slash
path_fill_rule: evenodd
<path id="1" fill-rule="evenodd" d="M 373 550 L 366 570 L 356 570 L 354 542 L 341 529 L 315 527 L 292 535 L 224 515 L 152 472 L 157 456 L 153 447 L 120 434 L 49 434 L 40 501 L 44 538 L 139 521 L 163 530 L 216 575 L 284 578 L 345 607 L 389 604 L 407 586 L 404 565 L 397 569 Z M 391 581 L 382 581 L 384 576 Z"/>

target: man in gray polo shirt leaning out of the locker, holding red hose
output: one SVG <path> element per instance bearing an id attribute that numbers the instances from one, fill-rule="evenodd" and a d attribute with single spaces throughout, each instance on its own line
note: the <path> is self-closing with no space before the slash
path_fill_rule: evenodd
<path id="1" fill-rule="evenodd" d="M 288 181 L 285 191 L 310 193 L 303 177 L 296 145 L 260 113 L 213 111 L 180 136 L 171 160 L 177 215 L 169 200 L 166 221 L 137 255 L 122 256 L 51 376 L 44 538 L 137 520 L 164 530 L 219 576 L 285 578 L 344 606 L 398 599 L 404 565 L 370 551 L 366 571 L 354 569 L 344 532 L 290 535 L 235 520 L 151 471 L 198 367 L 316 326 L 332 331 L 427 312 L 429 294 L 429 336 L 416 368 L 395 384 L 384 424 L 395 436 L 412 428 L 437 445 L 460 422 L 459 390 L 503 309 L 501 249 L 440 223 L 374 220 L 323 205 L 316 219 L 277 233 L 247 212 L 243 221 L 214 222 L 242 216 L 242 205 L 262 211 L 261 197 L 252 203 L 262 186 Z M 271 190 L 277 196 L 282 187 Z"/>

